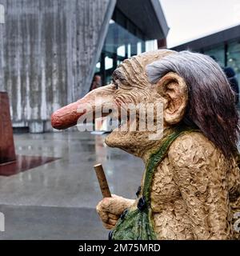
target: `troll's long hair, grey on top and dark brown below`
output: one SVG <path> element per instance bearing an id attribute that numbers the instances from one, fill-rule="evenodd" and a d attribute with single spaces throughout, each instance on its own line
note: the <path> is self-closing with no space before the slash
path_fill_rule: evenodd
<path id="1" fill-rule="evenodd" d="M 204 54 L 182 51 L 151 63 L 146 72 L 151 83 L 169 72 L 185 79 L 189 100 L 183 122 L 198 126 L 230 157 L 238 142 L 238 112 L 234 93 L 218 63 Z"/>

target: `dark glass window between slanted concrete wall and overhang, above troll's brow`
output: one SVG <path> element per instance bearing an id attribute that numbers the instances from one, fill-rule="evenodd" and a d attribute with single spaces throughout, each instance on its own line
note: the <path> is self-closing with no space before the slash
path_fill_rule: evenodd
<path id="1" fill-rule="evenodd" d="M 126 58 L 146 50 L 158 49 L 157 40 L 146 42 L 144 34 L 117 9 L 114 10 L 106 34 L 102 54 L 96 72 L 102 77 L 102 85 L 111 82 L 111 75 Z"/>

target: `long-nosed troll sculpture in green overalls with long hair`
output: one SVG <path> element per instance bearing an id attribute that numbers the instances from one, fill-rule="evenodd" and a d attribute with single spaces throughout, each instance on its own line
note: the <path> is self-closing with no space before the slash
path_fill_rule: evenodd
<path id="1" fill-rule="evenodd" d="M 238 113 L 218 64 L 189 51 L 139 54 L 114 70 L 110 85 L 57 110 L 52 125 L 74 126 L 79 106 L 101 111 L 113 102 L 162 102 L 163 135 L 150 140 L 150 131 L 127 130 L 106 138 L 146 164 L 136 200 L 113 195 L 98 203 L 110 238 L 239 239 Z"/>

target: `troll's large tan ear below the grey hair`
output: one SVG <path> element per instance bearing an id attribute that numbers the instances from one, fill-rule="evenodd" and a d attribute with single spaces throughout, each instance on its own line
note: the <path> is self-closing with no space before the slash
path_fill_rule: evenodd
<path id="1" fill-rule="evenodd" d="M 185 80 L 178 74 L 170 72 L 157 82 L 157 90 L 165 99 L 164 121 L 169 125 L 180 122 L 185 114 L 188 100 Z"/>

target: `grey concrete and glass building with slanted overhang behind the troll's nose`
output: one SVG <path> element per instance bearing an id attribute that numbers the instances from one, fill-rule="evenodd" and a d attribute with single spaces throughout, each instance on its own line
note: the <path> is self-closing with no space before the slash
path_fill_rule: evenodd
<path id="1" fill-rule="evenodd" d="M 168 26 L 158 0 L 2 0 L 2 90 L 14 127 L 51 130 L 50 114 L 110 82 L 124 58 L 156 47 Z"/>

